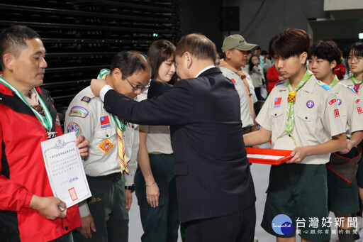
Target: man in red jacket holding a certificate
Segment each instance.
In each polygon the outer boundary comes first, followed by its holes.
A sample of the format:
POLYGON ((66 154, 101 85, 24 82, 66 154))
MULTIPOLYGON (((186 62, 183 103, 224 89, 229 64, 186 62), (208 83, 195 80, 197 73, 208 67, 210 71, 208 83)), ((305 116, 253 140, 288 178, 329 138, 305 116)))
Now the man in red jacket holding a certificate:
MULTIPOLYGON (((72 241, 78 206, 54 197, 40 143, 62 135, 49 92, 40 89, 47 62, 40 36, 26 26, 0 33, 1 241, 72 241), (41 122, 43 121, 43 122, 41 122)), ((78 138, 81 156, 89 141, 78 138)))

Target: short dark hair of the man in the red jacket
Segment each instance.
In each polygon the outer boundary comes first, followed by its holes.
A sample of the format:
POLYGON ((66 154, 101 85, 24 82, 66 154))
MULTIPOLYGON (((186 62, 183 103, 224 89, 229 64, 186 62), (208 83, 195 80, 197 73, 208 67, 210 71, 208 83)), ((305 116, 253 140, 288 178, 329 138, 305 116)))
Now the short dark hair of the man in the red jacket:
POLYGON ((4 28, 0 33, 1 69, 3 71, 5 69, 3 57, 6 53, 12 53, 16 58, 19 57, 21 50, 28 48, 26 40, 33 40, 34 38, 40 38, 40 36, 26 26, 4 28))

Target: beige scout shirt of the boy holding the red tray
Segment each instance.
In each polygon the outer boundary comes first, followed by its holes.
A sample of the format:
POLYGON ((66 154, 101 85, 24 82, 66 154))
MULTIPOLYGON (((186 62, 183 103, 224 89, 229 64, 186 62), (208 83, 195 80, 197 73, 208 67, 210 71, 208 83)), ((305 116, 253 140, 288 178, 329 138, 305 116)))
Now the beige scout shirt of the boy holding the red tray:
MULTIPOLYGON (((333 136, 345 133, 335 94, 331 89, 325 90, 323 86, 330 89, 312 75, 296 93, 295 121, 292 130, 296 145, 289 133, 277 138, 286 130, 289 97, 287 82, 280 82, 272 89, 256 118, 260 126, 272 132, 272 148, 294 150, 296 146, 318 145, 329 141, 333 136)), ((330 153, 311 155, 304 158, 301 163, 325 164, 329 158, 330 153)))

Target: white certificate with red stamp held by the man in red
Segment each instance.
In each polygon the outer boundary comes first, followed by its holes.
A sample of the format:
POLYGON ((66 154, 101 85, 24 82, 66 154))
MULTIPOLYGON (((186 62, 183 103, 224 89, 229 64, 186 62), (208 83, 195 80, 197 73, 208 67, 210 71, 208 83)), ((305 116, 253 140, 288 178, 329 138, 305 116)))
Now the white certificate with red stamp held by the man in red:
POLYGON ((74 132, 70 132, 41 143, 52 192, 67 208, 91 197, 75 140, 74 132))

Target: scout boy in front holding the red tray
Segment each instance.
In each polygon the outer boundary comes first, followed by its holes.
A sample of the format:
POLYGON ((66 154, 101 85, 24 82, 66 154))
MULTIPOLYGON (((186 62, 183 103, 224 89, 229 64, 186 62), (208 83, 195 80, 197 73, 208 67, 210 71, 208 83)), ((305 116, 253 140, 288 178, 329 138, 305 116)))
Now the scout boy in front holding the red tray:
POLYGON ((328 216, 325 163, 330 153, 347 144, 335 94, 306 68, 309 48, 308 34, 296 28, 270 40, 274 65, 287 80, 272 89, 259 112, 259 131, 243 136, 245 145, 272 138, 272 148, 293 150, 287 164, 272 165, 270 170, 262 227, 277 241, 295 241, 296 221, 301 241, 330 239, 329 231, 318 233, 324 231, 321 221, 328 216), (272 221, 279 214, 289 216, 295 228, 277 233, 272 221), (314 218, 320 223, 311 226, 314 218))

